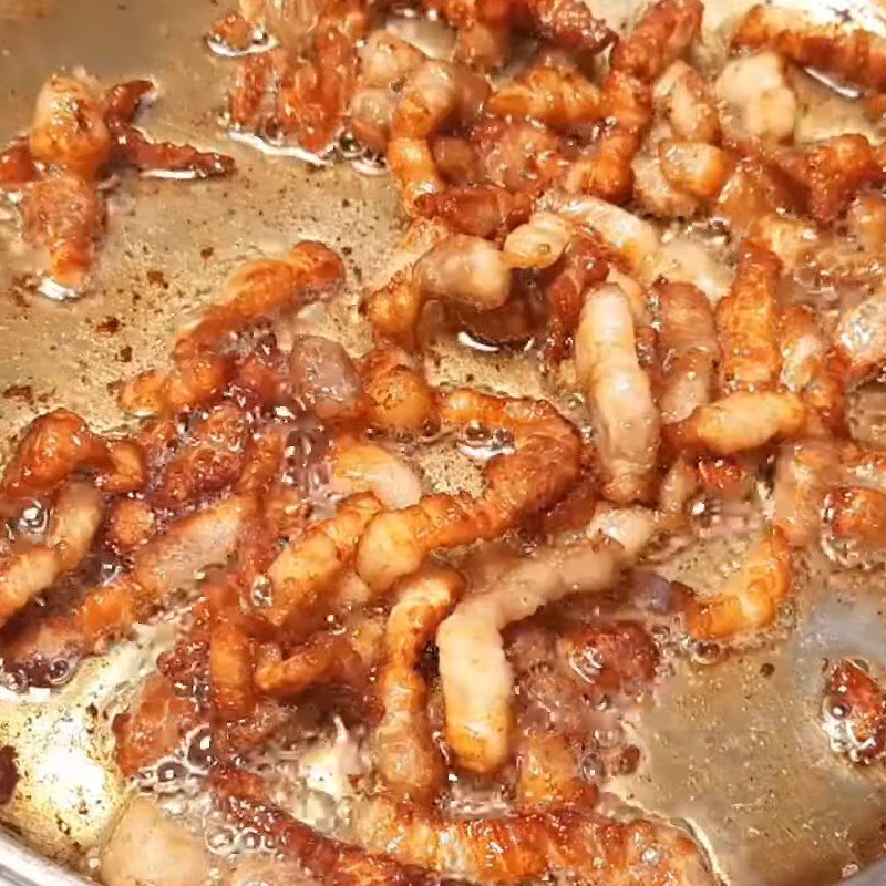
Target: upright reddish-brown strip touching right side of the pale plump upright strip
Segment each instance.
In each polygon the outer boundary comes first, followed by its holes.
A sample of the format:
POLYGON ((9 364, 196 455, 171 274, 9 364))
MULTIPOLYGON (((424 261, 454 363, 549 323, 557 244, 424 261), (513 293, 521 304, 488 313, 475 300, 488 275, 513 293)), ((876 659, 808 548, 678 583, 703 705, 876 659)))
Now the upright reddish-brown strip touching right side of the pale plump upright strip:
POLYGON ((720 356, 713 311, 707 296, 690 284, 660 284, 659 347, 662 380, 659 409, 663 424, 689 418, 711 401, 720 356))

